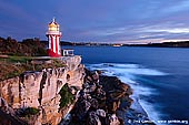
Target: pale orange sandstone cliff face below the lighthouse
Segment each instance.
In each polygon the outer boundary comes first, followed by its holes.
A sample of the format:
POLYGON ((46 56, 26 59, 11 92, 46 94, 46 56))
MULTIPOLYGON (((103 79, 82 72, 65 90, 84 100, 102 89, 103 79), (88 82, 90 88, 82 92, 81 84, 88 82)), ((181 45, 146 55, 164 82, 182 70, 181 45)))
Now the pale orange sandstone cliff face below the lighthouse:
POLYGON ((69 86, 81 88, 84 74, 80 56, 67 56, 62 61, 67 66, 26 72, 20 76, 1 81, 0 97, 3 100, 0 102, 1 108, 4 103, 7 104, 3 105, 4 112, 8 112, 8 107, 13 111, 36 107, 40 113, 32 124, 57 125, 63 117, 59 112, 61 87, 68 83, 69 86))

